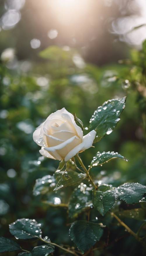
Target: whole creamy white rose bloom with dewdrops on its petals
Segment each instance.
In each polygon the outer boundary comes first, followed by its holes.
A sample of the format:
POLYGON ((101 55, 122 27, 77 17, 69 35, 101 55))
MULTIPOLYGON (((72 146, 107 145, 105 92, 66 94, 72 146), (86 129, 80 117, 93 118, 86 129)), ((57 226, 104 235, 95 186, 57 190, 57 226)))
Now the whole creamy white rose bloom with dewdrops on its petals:
POLYGON ((33 140, 41 146, 40 154, 57 160, 68 161, 78 152, 92 146, 96 132, 83 136, 74 116, 65 108, 52 113, 33 133, 33 140))

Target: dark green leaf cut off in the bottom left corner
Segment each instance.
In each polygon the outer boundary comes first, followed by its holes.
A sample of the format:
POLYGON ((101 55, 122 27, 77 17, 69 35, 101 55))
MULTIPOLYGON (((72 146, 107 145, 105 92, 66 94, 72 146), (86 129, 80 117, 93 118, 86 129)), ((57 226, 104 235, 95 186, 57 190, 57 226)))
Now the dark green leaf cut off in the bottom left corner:
POLYGON ((13 252, 20 249, 20 245, 15 243, 13 240, 0 237, 0 252, 13 252))

